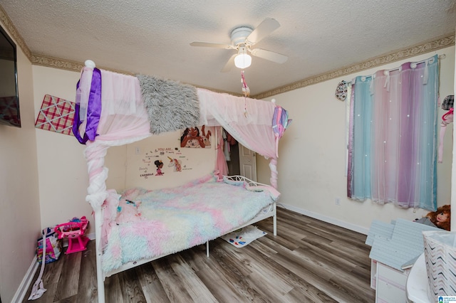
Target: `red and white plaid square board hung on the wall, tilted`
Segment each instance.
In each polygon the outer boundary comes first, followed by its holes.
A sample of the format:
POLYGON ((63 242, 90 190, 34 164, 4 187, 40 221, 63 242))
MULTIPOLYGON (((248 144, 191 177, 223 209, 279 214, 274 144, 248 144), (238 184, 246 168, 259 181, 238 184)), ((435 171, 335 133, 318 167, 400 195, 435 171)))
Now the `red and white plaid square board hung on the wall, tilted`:
POLYGON ((74 102, 45 95, 41 110, 36 117, 35 127, 72 136, 74 107, 74 102))

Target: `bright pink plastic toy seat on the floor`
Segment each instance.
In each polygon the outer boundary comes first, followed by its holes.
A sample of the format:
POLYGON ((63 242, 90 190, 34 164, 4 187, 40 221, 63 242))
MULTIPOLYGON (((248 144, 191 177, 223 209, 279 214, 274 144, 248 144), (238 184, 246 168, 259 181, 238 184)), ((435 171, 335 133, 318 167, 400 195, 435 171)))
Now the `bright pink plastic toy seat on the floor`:
POLYGON ((54 228, 59 239, 68 238, 66 254, 86 250, 89 238, 84 233, 86 233, 87 225, 88 220, 86 216, 83 216, 82 218, 75 217, 69 222, 59 224, 54 228))

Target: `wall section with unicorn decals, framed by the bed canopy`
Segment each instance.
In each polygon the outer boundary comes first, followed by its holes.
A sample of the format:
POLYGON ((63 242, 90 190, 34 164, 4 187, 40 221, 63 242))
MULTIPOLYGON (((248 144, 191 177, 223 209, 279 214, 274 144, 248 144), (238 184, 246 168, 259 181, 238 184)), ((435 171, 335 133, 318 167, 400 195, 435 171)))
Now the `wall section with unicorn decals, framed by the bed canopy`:
MULTIPOLYGON (((214 129, 211 129, 214 134, 214 129)), ((214 135, 211 148, 181 148, 180 132, 154 135, 125 147, 110 147, 105 157, 109 169, 108 188, 118 192, 139 186, 147 189, 170 188, 205 176, 214 171, 214 135), (181 161, 182 171, 169 166, 171 159, 181 161), (163 162, 163 176, 155 176, 155 160, 163 162)))

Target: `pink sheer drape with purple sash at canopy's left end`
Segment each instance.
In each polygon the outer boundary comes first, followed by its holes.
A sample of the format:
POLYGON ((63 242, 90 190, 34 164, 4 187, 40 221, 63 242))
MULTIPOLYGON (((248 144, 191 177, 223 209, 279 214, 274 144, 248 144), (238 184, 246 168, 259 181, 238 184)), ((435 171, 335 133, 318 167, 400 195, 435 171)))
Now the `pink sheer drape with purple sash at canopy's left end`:
POLYGON ((149 130, 138 78, 83 68, 76 90, 73 133, 87 146, 84 151, 89 174, 86 200, 92 208, 101 208, 108 196, 105 184, 108 169, 104 167, 108 147, 144 139, 150 136, 149 130))

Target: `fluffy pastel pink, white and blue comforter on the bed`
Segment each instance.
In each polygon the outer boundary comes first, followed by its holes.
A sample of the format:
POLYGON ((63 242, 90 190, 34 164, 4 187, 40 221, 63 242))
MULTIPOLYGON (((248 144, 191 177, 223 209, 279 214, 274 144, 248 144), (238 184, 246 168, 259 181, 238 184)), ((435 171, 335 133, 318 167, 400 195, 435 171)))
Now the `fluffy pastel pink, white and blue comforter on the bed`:
POLYGON ((213 240, 252 220, 278 197, 272 187, 217 181, 213 175, 177 188, 125 191, 116 223, 110 224, 103 270, 213 240))

